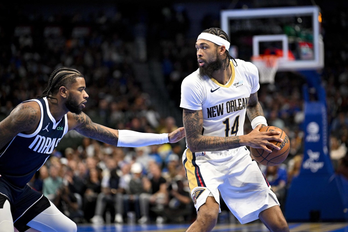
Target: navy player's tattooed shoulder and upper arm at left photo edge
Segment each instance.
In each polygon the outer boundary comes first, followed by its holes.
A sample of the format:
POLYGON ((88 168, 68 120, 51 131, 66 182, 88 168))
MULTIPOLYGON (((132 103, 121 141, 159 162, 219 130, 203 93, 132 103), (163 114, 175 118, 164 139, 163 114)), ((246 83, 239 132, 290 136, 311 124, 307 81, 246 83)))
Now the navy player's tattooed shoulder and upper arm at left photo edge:
POLYGON ((25 102, 18 105, 0 122, 0 149, 18 133, 32 134, 41 119, 40 106, 37 102, 25 102))

